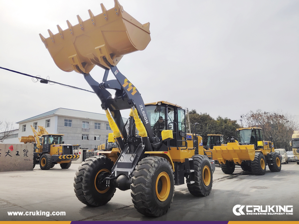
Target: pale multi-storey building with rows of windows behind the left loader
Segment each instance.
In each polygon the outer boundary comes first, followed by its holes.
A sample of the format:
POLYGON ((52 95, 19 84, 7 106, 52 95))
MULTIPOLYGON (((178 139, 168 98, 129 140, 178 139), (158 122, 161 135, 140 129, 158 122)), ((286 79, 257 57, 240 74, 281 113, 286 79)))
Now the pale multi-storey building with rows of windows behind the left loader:
POLYGON ((18 137, 33 135, 30 125, 37 131, 44 126, 48 133, 64 134, 65 144, 79 144, 82 149, 94 149, 106 143, 108 134, 112 132, 106 114, 76 111, 58 108, 21 121, 18 133, 14 138, 5 139, 3 143, 19 143, 18 137))

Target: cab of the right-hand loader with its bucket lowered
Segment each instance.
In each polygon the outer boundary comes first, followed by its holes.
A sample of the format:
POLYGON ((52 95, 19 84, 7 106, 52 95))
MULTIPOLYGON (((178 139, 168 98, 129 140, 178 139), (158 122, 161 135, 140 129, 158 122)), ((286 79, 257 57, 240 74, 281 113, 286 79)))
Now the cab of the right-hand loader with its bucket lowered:
POLYGON ((240 144, 254 145, 256 149, 258 148, 258 141, 263 141, 262 128, 259 127, 239 128, 236 135, 240 144))

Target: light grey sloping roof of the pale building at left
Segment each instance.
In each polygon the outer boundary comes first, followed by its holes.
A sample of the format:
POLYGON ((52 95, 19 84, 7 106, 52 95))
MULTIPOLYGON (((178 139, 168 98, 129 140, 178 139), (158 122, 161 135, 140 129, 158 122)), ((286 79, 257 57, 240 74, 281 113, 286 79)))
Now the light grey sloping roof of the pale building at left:
MULTIPOLYGON (((36 116, 32 116, 30 118, 18 121, 16 123, 23 123, 29 120, 35 120, 42 117, 47 117, 51 115, 60 115, 60 116, 68 116, 68 117, 78 117, 78 118, 87 118, 87 119, 94 119, 94 120, 105 120, 108 121, 106 114, 103 113, 94 113, 94 112, 86 112, 86 111, 77 111, 65 108, 58 108, 49 112, 41 113, 36 116)), ((125 118, 123 118, 125 120, 125 118)))

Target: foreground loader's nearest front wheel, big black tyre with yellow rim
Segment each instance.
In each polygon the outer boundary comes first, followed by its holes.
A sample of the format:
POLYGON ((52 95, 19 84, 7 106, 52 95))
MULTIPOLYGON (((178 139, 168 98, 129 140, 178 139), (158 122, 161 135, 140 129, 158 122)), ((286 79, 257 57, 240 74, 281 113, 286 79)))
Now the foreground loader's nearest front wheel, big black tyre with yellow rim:
POLYGON ((131 196, 134 207, 145 216, 164 215, 173 201, 174 176, 169 162, 162 157, 142 159, 133 172, 131 196))

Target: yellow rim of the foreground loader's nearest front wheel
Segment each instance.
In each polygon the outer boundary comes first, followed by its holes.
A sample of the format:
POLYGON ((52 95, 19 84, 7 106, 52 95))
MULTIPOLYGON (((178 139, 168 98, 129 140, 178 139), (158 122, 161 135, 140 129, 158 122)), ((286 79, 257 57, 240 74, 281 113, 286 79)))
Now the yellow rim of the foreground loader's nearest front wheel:
POLYGON ((156 183, 155 192, 159 201, 164 202, 170 192, 170 179, 166 172, 159 173, 156 183))

